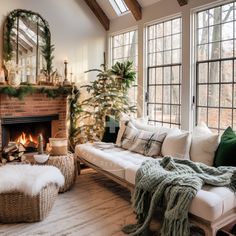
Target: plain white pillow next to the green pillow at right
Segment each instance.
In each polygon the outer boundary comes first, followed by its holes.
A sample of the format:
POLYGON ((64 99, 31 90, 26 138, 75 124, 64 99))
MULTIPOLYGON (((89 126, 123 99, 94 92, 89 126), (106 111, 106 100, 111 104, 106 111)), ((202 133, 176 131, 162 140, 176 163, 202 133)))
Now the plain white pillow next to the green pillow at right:
POLYGON ((206 124, 194 128, 190 157, 192 161, 213 166, 215 152, 219 146, 219 135, 213 134, 206 124))

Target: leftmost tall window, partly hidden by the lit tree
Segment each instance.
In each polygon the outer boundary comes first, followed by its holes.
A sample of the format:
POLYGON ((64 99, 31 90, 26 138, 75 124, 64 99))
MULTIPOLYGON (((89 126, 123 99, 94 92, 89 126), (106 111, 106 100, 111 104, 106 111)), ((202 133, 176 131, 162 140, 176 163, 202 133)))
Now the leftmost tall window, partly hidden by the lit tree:
MULTIPOLYGON (((117 61, 133 61, 135 71, 138 71, 138 40, 137 30, 131 30, 111 37, 111 64, 117 61)), ((129 90, 131 105, 137 105, 137 76, 136 81, 129 90)))

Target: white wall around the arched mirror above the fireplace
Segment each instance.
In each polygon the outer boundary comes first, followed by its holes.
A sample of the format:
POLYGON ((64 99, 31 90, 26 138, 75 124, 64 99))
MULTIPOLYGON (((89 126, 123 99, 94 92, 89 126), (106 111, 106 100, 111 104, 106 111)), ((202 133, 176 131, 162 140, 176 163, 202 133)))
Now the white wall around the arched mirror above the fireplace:
MULTIPOLYGON (((94 79, 94 75, 83 72, 97 68, 103 62, 106 31, 84 0, 1 0, 0 32, 6 16, 18 8, 37 12, 49 22, 52 44, 55 45, 54 68, 63 73, 63 61, 68 58, 68 70, 72 70, 74 80, 84 84, 94 79)), ((2 38, 1 33, 1 62, 2 38)))

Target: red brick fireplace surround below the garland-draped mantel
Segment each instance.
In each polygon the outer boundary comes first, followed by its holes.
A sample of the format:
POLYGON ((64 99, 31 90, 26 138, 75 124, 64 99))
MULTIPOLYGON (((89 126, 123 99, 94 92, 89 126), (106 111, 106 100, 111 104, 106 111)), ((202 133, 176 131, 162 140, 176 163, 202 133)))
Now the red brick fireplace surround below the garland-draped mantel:
MULTIPOLYGON (((45 94, 34 93, 23 100, 0 95, 0 122, 7 117, 28 117, 59 115, 52 121, 52 137, 67 137, 67 98, 60 96, 52 99, 45 94)), ((0 149, 2 149, 2 124, 0 124, 0 149)))

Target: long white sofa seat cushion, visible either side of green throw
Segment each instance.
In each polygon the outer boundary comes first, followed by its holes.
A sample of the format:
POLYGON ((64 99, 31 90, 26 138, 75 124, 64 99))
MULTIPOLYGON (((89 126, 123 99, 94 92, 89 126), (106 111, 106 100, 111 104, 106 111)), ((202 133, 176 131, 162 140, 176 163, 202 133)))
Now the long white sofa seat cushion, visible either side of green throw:
MULTIPOLYGON (((135 185, 138 168, 143 161, 150 158, 117 148, 112 144, 109 148, 98 147, 96 144, 77 145, 76 154, 133 185, 135 185)), ((190 205, 189 212, 205 220, 214 221, 235 207, 236 198, 232 191, 225 187, 206 185, 198 191, 190 205)))

